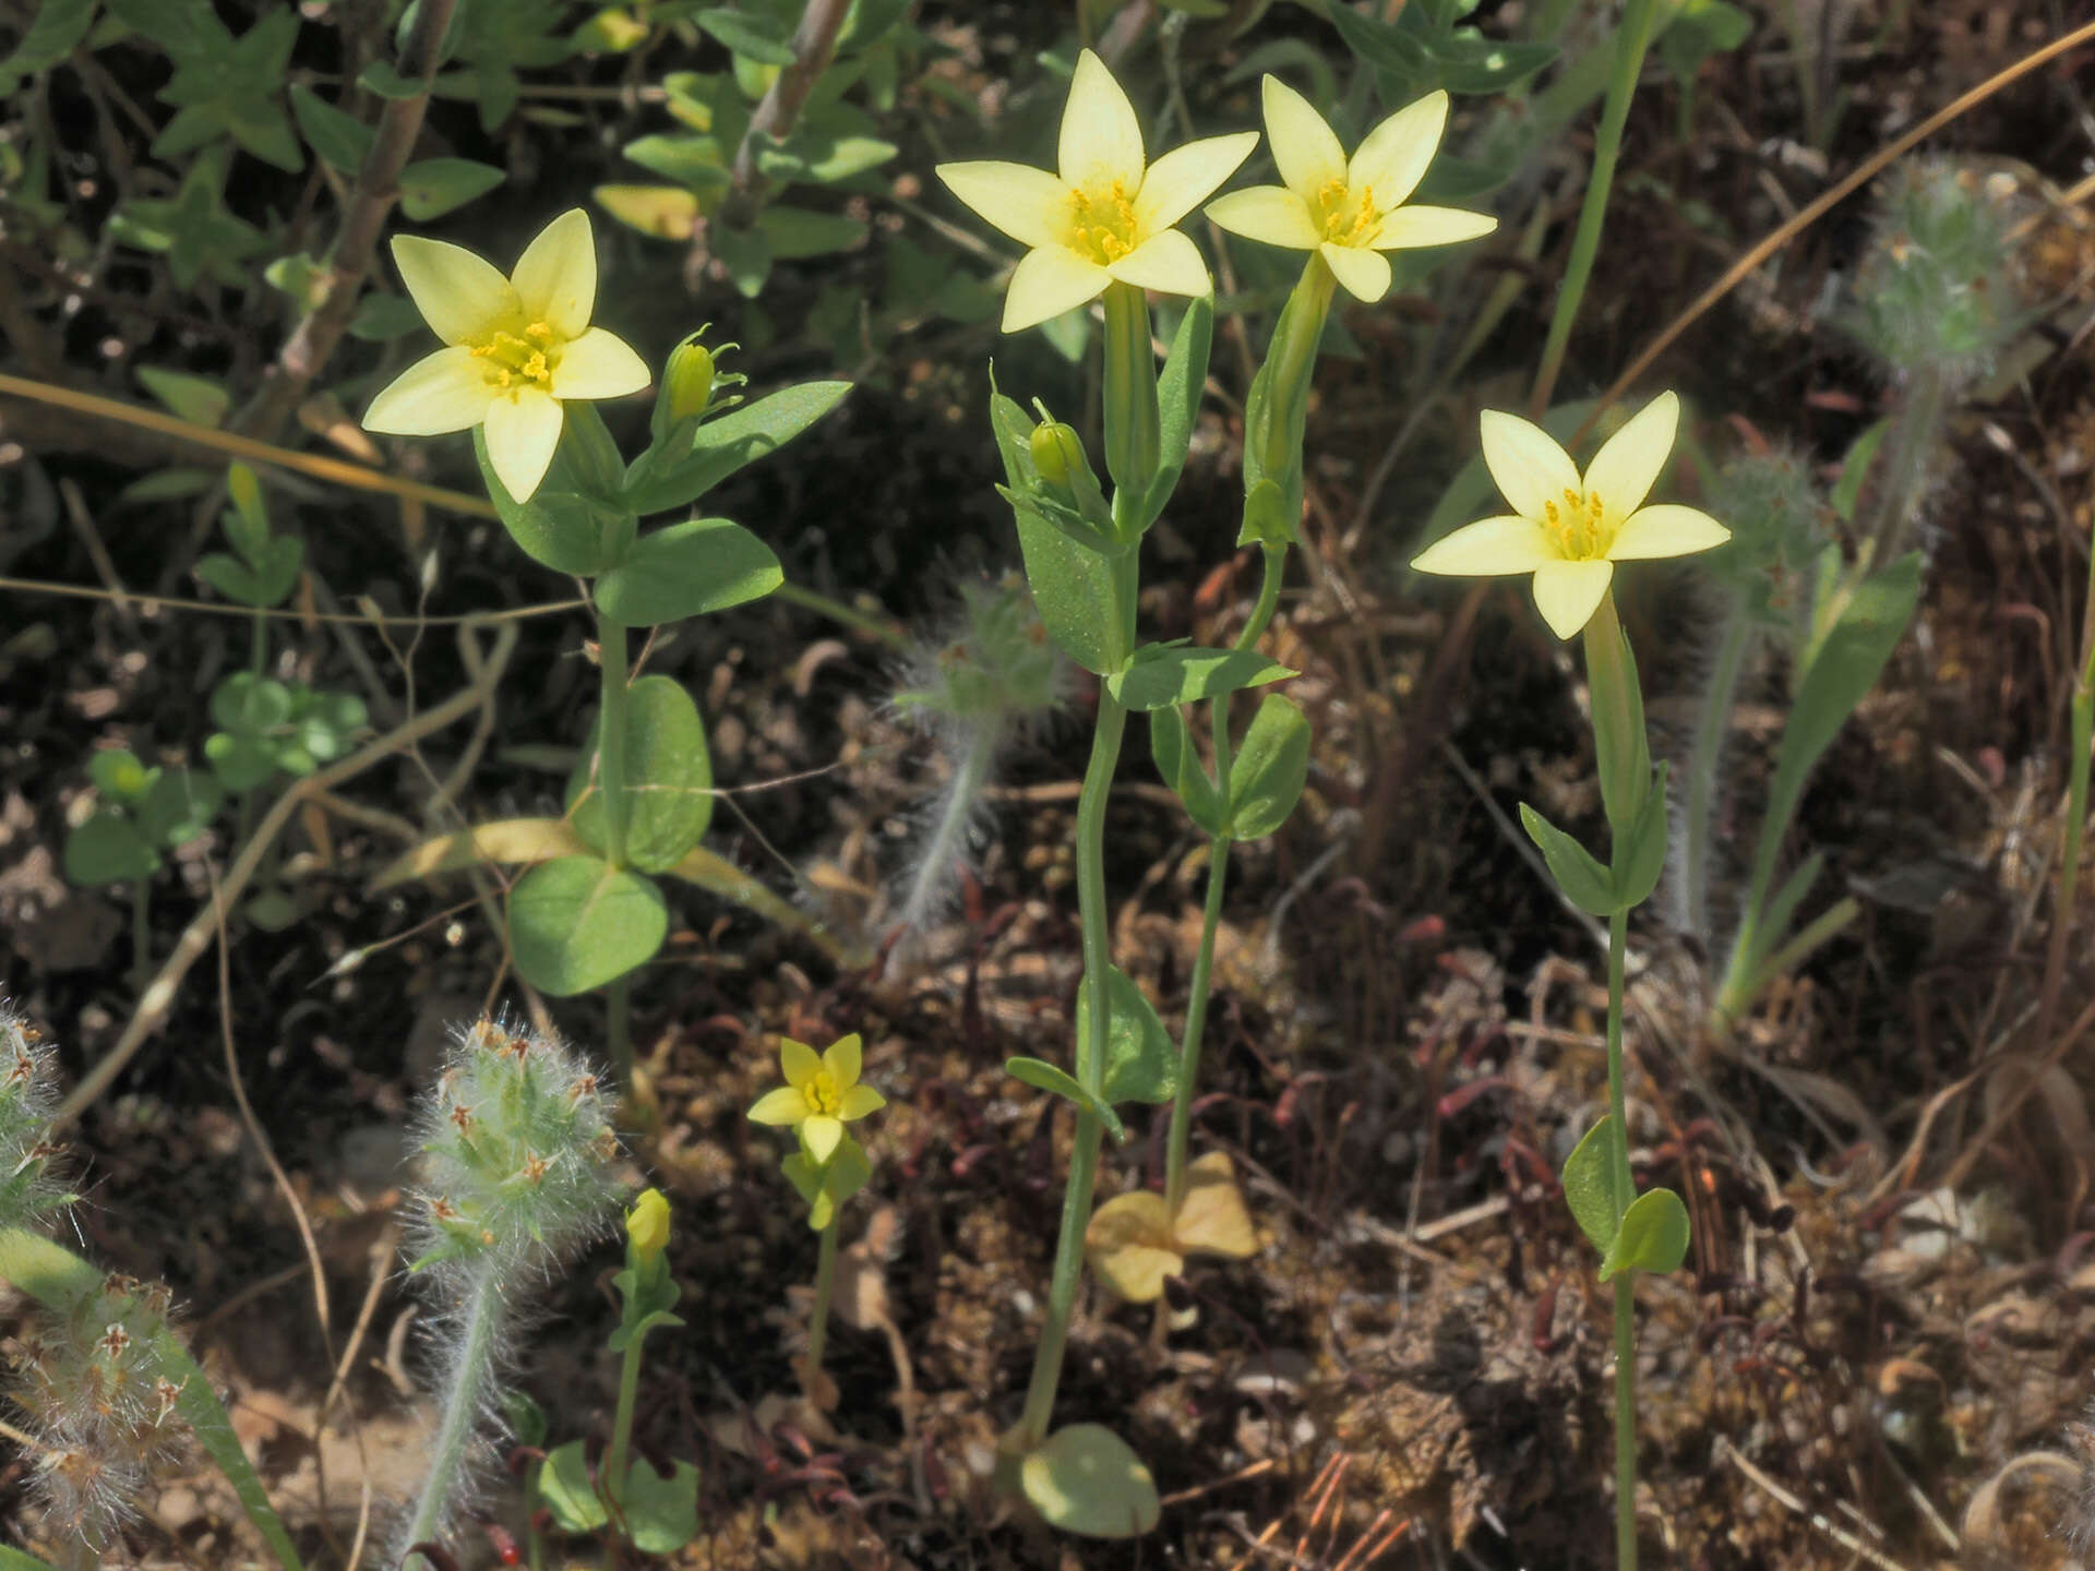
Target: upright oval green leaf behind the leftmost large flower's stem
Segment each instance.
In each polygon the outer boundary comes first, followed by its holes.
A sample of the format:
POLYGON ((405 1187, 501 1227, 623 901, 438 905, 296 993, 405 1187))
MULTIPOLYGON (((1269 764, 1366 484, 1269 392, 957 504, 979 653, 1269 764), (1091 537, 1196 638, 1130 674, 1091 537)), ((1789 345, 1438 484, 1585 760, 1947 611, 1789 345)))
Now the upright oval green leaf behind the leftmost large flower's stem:
MULTIPOLYGON (((595 781, 603 721, 589 729, 589 750, 568 781, 568 821, 593 850, 603 850, 603 792, 595 781)), ((670 677, 641 677, 626 687, 626 861, 666 873, 712 821, 712 754, 698 704, 670 677)))

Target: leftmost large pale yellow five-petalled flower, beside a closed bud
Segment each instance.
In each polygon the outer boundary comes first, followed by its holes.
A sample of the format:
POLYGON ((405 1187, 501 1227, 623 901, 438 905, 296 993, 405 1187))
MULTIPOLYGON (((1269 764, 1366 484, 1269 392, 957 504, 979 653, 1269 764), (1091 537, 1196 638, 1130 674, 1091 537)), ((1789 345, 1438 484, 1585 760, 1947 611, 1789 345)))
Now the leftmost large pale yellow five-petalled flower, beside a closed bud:
POLYGON ((547 224, 507 279, 461 245, 417 235, 394 239, 394 262, 446 348, 371 400, 367 432, 442 436, 486 425, 488 463, 526 501, 559 446, 561 402, 647 385, 633 348, 589 325, 597 245, 580 207, 547 224))

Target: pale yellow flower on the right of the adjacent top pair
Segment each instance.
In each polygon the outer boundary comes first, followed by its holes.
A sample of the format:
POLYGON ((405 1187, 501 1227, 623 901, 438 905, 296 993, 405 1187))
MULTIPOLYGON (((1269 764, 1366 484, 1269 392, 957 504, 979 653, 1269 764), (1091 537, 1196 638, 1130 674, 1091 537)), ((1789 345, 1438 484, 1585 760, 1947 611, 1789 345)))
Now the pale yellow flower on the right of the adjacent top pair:
POLYGON ((1265 78, 1265 140, 1280 165, 1278 186, 1232 191, 1207 216, 1232 235, 1316 251, 1339 283, 1366 302, 1389 293, 1389 258, 1418 245, 1473 241, 1498 228, 1490 214, 1406 205, 1448 130, 1448 94, 1429 92, 1372 132, 1351 161, 1307 98, 1265 78))

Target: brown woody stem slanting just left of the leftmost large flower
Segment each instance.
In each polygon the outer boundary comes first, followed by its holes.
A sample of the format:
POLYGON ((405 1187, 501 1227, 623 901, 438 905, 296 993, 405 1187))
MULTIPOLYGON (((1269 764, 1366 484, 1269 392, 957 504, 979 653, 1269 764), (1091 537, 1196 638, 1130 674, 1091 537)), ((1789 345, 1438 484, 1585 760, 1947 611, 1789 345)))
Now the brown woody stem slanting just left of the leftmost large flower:
POLYGON ((333 356, 350 316, 356 314, 379 235, 385 230, 394 201, 400 199, 400 170, 406 168, 415 138, 421 136, 421 117, 429 107, 429 82, 436 75, 444 31, 450 27, 453 4, 455 0, 423 0, 415 13, 415 31, 400 50, 400 73, 421 82, 421 92, 413 98, 388 98, 385 109, 379 111, 377 134, 356 172, 356 189, 350 193, 341 237, 335 241, 335 253, 327 268, 327 291, 285 339, 277 362, 262 377, 262 388, 235 417, 233 429, 241 436, 270 440, 283 429, 312 379, 333 356))

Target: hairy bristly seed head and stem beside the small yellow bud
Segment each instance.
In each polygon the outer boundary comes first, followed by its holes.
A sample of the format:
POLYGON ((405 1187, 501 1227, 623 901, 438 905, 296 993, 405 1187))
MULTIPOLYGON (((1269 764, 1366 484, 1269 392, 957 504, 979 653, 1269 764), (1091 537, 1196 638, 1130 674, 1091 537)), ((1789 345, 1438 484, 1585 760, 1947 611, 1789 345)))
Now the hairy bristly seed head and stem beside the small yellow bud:
MULTIPOLYGON (((442 1542, 501 1431, 501 1376, 530 1288, 618 1215, 618 1137, 595 1070, 566 1043, 482 1018, 417 1108, 411 1271, 436 1299, 438 1431, 392 1563, 442 1542)), ((434 1567, 432 1567, 434 1571, 434 1567)))

